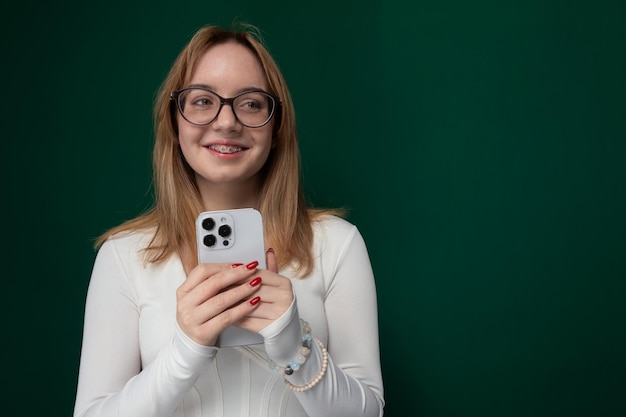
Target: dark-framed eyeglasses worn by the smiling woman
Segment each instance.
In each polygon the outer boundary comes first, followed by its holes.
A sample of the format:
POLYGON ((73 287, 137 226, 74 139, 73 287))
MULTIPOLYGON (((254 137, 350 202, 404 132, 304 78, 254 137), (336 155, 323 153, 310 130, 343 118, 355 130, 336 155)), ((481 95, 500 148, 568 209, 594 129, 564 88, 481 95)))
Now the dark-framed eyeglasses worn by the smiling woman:
POLYGON ((176 102, 180 114, 189 123, 203 126, 217 119, 222 107, 230 105, 235 118, 246 127, 261 127, 270 121, 280 100, 265 91, 250 90, 235 97, 224 98, 202 87, 174 91, 170 99, 176 102))

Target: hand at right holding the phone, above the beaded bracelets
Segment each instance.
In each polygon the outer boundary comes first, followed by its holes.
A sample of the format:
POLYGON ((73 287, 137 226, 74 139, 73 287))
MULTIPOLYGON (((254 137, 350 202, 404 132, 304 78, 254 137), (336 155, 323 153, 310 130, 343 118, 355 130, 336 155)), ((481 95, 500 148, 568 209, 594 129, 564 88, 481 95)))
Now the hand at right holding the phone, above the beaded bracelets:
POLYGON ((237 326, 258 333, 289 309, 293 302, 293 289, 291 281, 278 274, 276 255, 272 249, 267 251, 267 269, 258 270, 257 274, 263 280, 256 293, 261 302, 237 326))

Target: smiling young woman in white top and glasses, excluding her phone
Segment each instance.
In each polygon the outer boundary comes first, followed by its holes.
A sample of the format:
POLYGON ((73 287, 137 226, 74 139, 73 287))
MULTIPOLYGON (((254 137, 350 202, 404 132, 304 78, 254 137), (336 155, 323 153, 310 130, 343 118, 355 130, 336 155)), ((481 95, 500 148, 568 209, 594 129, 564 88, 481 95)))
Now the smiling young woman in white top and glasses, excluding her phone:
POLYGON ((382 416, 356 227, 307 207, 291 97, 255 29, 207 26, 155 103, 155 206, 98 240, 75 416, 382 416), (252 207, 267 269, 198 264, 196 216, 252 207), (263 343, 216 347, 230 325, 263 343))

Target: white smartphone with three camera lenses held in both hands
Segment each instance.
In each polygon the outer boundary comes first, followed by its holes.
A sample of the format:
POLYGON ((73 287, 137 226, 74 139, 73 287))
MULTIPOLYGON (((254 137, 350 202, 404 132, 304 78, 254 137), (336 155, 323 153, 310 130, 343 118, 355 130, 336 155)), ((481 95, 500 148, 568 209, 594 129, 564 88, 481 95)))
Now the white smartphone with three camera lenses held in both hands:
MULTIPOLYGON (((265 238, 261 212, 254 208, 205 211, 196 219, 198 262, 226 262, 247 264, 259 262, 267 268, 265 238)), ((263 343, 255 332, 229 326, 217 339, 217 347, 263 343)))

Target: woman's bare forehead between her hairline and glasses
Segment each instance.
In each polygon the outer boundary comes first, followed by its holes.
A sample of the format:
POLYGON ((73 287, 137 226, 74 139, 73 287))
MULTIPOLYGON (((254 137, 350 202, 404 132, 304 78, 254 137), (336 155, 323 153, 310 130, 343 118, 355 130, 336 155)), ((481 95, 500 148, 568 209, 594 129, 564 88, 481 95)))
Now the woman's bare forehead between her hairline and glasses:
POLYGON ((268 86, 259 59, 236 42, 211 46, 196 63, 190 84, 206 85, 224 94, 246 88, 267 89, 268 86))

